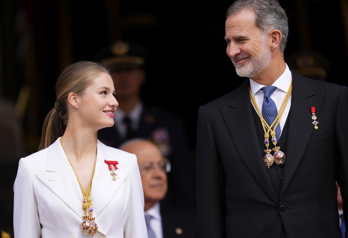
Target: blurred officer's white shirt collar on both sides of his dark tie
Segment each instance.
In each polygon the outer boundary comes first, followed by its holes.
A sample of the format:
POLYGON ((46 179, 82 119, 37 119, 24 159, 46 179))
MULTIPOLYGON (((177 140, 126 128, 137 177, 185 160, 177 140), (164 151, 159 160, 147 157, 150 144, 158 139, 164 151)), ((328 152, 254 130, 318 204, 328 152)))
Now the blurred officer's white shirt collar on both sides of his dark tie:
MULTIPOLYGON (((131 127, 134 131, 136 131, 139 127, 141 112, 143 111, 143 103, 138 102, 135 104, 132 110, 128 113, 128 117, 132 120, 131 127)), ((126 113, 122 111, 119 107, 117 107, 115 111, 115 116, 113 120, 115 121, 114 127, 116 127, 120 137, 124 139, 127 135, 127 126, 123 122, 126 113)))

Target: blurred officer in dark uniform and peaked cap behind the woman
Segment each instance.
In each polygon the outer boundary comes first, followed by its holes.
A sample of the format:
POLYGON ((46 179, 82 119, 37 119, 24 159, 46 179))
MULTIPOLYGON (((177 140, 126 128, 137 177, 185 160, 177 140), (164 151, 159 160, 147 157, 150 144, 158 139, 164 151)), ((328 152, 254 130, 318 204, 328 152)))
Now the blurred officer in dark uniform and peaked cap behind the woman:
MULTIPOLYGON (((147 54, 147 49, 139 44, 118 41, 104 47, 96 55, 96 60, 109 66, 112 71, 119 102, 114 126, 100 130, 98 137, 103 143, 115 148, 132 138, 153 141, 162 155, 169 159, 172 167, 168 174, 170 189, 166 199, 194 209, 195 183, 182 121, 159 107, 144 105, 140 98, 141 86, 146 80, 147 54)), ((156 93, 155 89, 153 93, 156 93)))

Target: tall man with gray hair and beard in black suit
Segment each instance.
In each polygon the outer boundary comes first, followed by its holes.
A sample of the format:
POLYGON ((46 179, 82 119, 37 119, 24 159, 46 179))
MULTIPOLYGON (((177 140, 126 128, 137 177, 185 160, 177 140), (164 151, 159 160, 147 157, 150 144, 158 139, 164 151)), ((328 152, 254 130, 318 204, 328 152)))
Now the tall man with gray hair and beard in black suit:
POLYGON ((335 181, 348 204, 348 88, 285 64, 277 0, 237 0, 225 30, 226 53, 247 79, 199 107, 199 237, 341 237, 335 181))

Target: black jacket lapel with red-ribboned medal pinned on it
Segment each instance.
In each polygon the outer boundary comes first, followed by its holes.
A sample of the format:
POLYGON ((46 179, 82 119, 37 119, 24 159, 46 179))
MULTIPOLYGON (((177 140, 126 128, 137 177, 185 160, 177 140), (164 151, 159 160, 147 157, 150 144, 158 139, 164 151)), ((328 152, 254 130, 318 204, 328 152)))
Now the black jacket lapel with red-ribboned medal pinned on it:
POLYGON ((313 121, 311 119, 311 107, 316 107, 316 115, 320 119, 319 111, 324 98, 324 92, 314 94, 310 85, 301 75, 292 69, 291 73, 293 85, 291 114, 289 115, 285 169, 279 198, 282 197, 287 185, 290 183, 314 130, 314 125, 311 124, 313 121))

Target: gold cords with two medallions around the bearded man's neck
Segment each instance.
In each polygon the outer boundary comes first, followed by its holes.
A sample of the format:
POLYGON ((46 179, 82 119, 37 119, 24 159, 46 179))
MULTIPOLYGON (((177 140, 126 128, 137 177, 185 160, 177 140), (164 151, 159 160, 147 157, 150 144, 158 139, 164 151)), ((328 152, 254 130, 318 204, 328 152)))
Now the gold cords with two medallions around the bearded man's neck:
POLYGON ((285 98, 282 102, 282 105, 280 106, 279 109, 279 113, 277 115, 277 117, 274 119, 274 121, 272 122, 272 124, 269 126, 266 122, 266 120, 262 117, 262 114, 259 110, 258 105, 256 104, 255 98, 251 92, 251 88, 249 85, 249 96, 250 96, 250 100, 253 103, 256 111, 259 114, 259 118, 261 121, 261 125, 262 125, 262 129, 264 131, 264 144, 266 146, 266 150, 264 150, 263 152, 265 153, 265 155, 263 156, 263 161, 266 165, 266 167, 269 169, 269 167, 275 162, 276 164, 284 164, 285 162, 285 154, 280 151, 280 147, 276 146, 277 145, 277 139, 276 139, 276 128, 280 122, 280 118, 282 118, 283 116, 283 112, 285 110, 286 104, 289 101, 290 95, 292 92, 292 80, 289 86, 289 89, 286 92, 285 98), (272 127, 274 126, 274 129, 272 130, 272 127), (266 127, 266 128, 265 128, 266 127), (267 129, 267 131, 266 131, 267 129), (270 152, 272 150, 268 149, 269 147, 269 133, 271 134, 271 141, 274 144, 274 148, 272 149, 275 153, 273 155, 270 154, 270 152))

